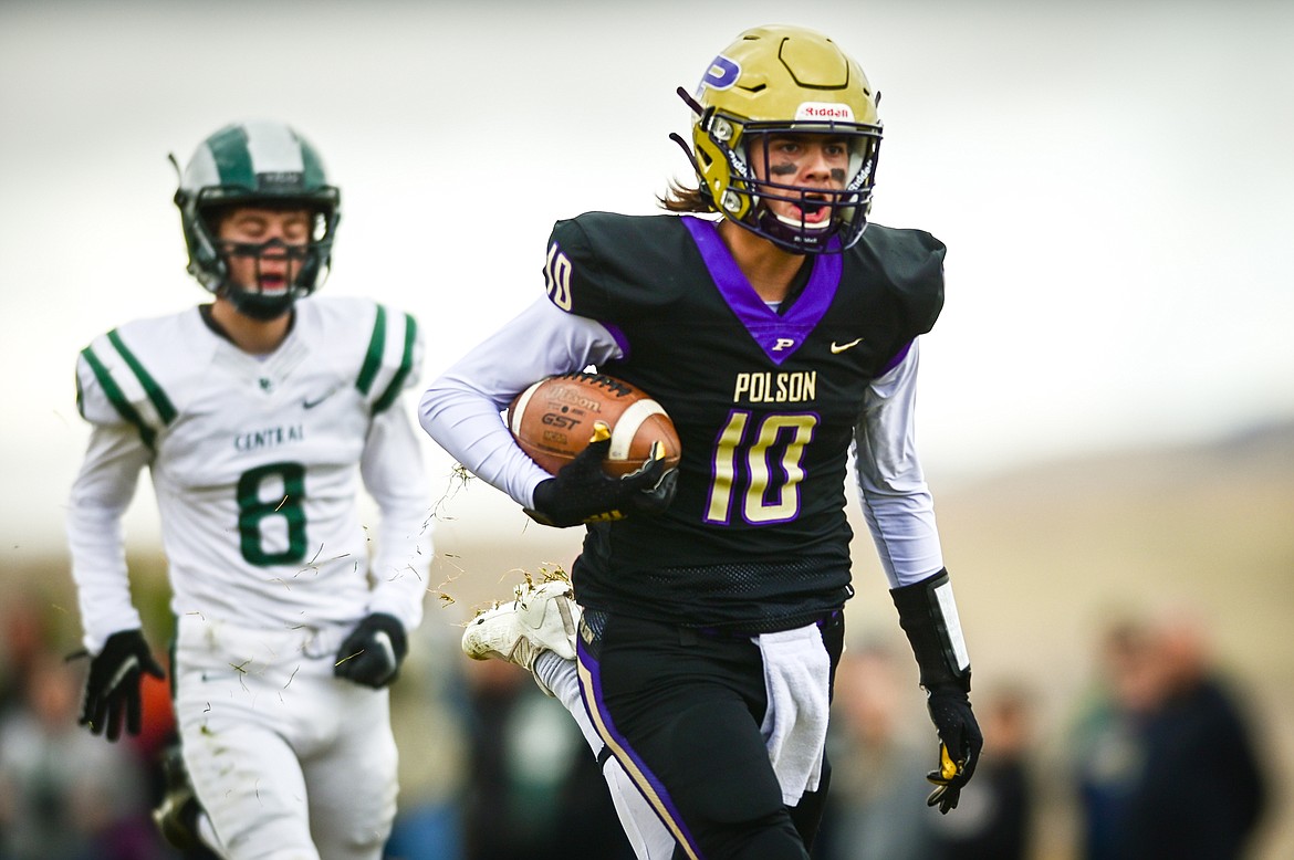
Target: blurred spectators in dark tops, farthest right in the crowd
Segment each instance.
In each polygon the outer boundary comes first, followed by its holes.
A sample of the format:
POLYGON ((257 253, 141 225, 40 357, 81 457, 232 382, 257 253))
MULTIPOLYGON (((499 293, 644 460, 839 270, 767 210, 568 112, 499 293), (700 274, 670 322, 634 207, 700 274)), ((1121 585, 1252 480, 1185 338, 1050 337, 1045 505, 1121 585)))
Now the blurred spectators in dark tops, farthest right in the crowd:
POLYGON ((1244 700, 1201 618, 1119 618, 1071 727, 1088 857, 1241 857, 1271 793, 1244 700))

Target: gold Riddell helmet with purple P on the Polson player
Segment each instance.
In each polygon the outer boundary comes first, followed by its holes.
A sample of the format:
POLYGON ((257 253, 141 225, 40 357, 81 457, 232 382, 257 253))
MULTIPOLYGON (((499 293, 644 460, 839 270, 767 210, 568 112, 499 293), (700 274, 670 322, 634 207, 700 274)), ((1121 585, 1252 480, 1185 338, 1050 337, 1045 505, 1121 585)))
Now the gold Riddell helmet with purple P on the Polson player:
MULTIPOLYGON (((827 36, 791 26, 747 30, 710 63, 692 103, 694 162, 714 210, 745 229, 797 253, 840 252, 867 225, 880 150, 881 123, 862 67, 827 36), (840 193, 758 180, 751 159, 760 136, 823 133, 849 146, 840 193), (779 219, 765 200, 782 199, 831 210, 806 222, 779 219)), ((769 172, 765 171, 765 176, 769 172)))

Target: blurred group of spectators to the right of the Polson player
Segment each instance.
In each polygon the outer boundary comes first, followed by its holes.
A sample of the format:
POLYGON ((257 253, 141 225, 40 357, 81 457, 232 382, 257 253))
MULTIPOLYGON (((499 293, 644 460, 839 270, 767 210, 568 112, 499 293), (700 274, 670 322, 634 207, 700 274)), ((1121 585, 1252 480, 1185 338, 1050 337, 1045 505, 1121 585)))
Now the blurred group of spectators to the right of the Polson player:
POLYGON ((1250 854, 1271 785, 1246 697, 1184 612, 1110 621, 1092 671, 1043 749, 1038 698, 1000 679, 973 697, 985 754, 961 803, 930 815, 914 736, 911 667, 879 647, 846 652, 833 710, 836 777, 815 860, 1236 860, 1250 854), (1056 750, 1060 750, 1057 753, 1056 750), (1044 807, 1073 822, 1044 839, 1044 807))

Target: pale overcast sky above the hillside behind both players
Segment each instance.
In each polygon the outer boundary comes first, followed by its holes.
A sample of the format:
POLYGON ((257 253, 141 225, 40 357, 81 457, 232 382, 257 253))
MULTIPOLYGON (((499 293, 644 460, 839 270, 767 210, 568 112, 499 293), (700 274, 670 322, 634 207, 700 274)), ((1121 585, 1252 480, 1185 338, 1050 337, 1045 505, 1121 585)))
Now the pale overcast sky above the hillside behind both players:
POLYGON ((6 0, 6 548, 62 539, 76 352, 204 297, 168 153, 236 119, 309 137, 343 189, 324 288, 415 313, 430 379, 541 294, 554 219, 653 211, 674 88, 778 22, 884 94, 873 221, 950 247, 932 481, 1294 418, 1290 3, 6 0))

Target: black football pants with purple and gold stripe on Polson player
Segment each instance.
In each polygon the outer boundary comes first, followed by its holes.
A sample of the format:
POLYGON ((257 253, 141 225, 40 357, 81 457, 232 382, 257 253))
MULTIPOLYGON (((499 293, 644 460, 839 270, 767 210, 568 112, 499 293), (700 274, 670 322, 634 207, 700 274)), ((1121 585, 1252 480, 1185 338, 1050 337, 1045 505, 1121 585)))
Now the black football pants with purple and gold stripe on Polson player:
MULTIPOLYGON (((580 676, 594 724, 679 843, 674 856, 807 860, 831 776, 795 807, 760 733, 766 709, 758 645, 639 618, 603 616, 580 643, 580 676)), ((844 643, 840 613, 819 625, 832 679, 844 643)))

